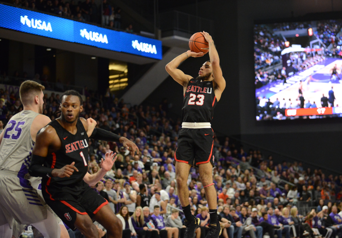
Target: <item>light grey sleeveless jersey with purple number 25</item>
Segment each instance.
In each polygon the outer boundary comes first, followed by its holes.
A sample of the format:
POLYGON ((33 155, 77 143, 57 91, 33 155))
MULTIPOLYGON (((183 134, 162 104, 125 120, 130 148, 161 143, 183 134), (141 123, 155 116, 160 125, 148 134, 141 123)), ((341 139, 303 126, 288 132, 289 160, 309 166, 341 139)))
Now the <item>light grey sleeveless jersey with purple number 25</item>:
POLYGON ((9 170, 22 176, 28 174, 35 144, 31 138, 31 124, 38 115, 31 110, 23 110, 7 123, 0 145, 0 172, 9 170))

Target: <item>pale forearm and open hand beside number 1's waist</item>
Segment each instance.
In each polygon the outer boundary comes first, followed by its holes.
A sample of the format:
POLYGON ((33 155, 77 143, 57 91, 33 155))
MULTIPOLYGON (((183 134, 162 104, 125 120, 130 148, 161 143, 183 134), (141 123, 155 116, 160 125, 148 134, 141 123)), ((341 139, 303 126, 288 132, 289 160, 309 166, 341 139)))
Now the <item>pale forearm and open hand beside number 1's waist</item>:
POLYGON ((101 169, 94 174, 87 172, 83 177, 83 181, 90 186, 95 186, 97 182, 100 181, 103 176, 105 176, 105 174, 113 167, 113 164, 117 158, 115 155, 116 153, 113 153, 113 151, 106 153, 105 160, 101 159, 101 169))

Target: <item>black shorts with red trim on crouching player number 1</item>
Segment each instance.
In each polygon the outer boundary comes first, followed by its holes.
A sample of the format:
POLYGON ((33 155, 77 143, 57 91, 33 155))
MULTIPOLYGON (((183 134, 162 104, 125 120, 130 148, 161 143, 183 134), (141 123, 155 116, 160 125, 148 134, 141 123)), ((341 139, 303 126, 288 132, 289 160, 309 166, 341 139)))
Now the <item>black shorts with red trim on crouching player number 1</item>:
MULTIPOLYGON (((57 214, 58 217, 74 230, 77 213, 89 215, 92 218, 103 206, 108 204, 100 194, 90 187, 87 187, 77 197, 61 191, 58 200, 54 200, 49 194, 42 190, 45 202, 57 214)), ((49 188, 50 190, 50 188, 49 188)))

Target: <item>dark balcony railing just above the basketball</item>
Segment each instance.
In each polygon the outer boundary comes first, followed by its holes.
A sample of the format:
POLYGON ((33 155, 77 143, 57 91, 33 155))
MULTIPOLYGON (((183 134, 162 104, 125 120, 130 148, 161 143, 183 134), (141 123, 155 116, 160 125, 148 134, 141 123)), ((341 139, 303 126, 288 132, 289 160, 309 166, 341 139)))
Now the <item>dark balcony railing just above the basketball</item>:
POLYGON ((213 35, 213 26, 214 22, 210 19, 179 11, 160 13, 160 29, 163 31, 178 30, 193 34, 204 30, 213 35))

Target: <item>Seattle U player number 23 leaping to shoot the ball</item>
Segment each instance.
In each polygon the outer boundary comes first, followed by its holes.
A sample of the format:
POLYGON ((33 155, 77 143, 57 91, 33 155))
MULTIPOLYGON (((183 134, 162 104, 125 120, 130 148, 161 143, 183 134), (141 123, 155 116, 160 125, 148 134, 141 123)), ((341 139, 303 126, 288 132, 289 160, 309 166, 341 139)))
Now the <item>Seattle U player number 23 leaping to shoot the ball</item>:
POLYGON ((210 61, 205 62, 194 79, 177 69, 182 61, 201 57, 203 53, 187 51, 166 65, 166 71, 183 86, 182 129, 179 132, 178 147, 175 152, 175 168, 178 196, 186 218, 184 238, 193 238, 200 226, 200 219, 191 214, 187 179, 192 166, 199 167, 199 175, 206 191, 210 212, 210 225, 206 238, 218 238, 222 232, 217 218, 216 191, 212 180, 213 130, 211 119, 216 103, 226 87, 222 76, 220 59, 214 41, 207 32, 201 32, 209 44, 210 61))

